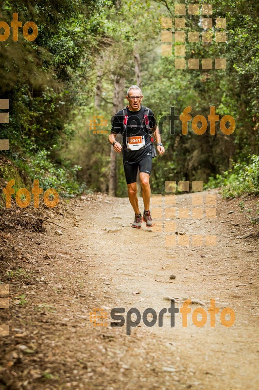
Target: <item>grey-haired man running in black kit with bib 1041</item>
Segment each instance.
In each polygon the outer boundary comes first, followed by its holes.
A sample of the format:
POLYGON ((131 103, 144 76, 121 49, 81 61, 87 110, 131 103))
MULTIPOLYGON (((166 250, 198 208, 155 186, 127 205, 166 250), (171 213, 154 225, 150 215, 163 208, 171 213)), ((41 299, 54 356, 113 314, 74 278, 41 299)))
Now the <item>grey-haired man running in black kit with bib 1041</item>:
POLYGON ((142 220, 146 222, 147 227, 155 225, 149 210, 151 195, 149 178, 152 169, 151 141, 153 140, 151 134, 157 142, 156 147, 159 155, 165 153, 165 148, 161 143, 159 129, 152 110, 141 106, 143 99, 141 89, 137 85, 132 85, 127 91, 126 99, 129 105, 127 108, 115 114, 111 134, 109 135, 109 142, 112 144, 116 153, 120 153, 122 150, 129 201, 135 212, 135 220, 131 226, 140 229, 142 220), (122 146, 115 139, 119 133, 123 137, 122 146), (138 168, 145 209, 143 216, 138 208, 138 168))

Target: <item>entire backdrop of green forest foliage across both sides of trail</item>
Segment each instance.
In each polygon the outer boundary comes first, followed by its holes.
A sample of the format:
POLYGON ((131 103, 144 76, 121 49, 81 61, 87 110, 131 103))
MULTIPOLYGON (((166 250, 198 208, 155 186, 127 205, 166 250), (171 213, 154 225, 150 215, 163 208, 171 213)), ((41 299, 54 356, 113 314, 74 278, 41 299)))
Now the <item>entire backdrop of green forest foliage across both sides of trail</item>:
MULTIPOLYGON (((7 156, 32 179, 39 178, 44 189, 78 194, 79 178, 89 189, 108 191, 110 147, 105 135, 88 130, 89 118, 112 116, 116 78, 125 80, 123 94, 136 84, 137 53, 143 105, 157 119, 168 116, 171 106, 176 115, 191 106, 192 117, 207 118, 209 107, 215 106, 220 118, 231 115, 236 120, 230 136, 223 135, 220 121, 215 136, 209 134, 209 126, 197 136, 190 123, 183 136, 180 121, 170 134, 166 121, 162 134, 166 154, 153 160, 153 193, 164 191, 165 180, 185 179, 208 181, 208 187, 227 186, 225 196, 257 194, 259 11, 254 1, 214 0, 213 19, 226 18, 227 41, 213 38, 212 44, 205 44, 187 39, 186 57, 226 58, 227 68, 184 71, 174 69, 174 55, 161 56, 160 17, 174 18, 174 0, 2 3, 1 20, 10 22, 12 13, 18 12, 19 20, 33 20, 39 28, 34 42, 25 42, 21 32, 18 42, 0 42, 0 96, 10 100, 10 123, 0 131, 10 140, 7 156), (99 81, 100 104, 95 108, 99 81), (82 169, 71 168, 67 160, 82 169)), ((201 35, 200 18, 186 17, 186 36, 197 30, 201 35)), ((117 165, 117 195, 126 196, 121 156, 117 165)))

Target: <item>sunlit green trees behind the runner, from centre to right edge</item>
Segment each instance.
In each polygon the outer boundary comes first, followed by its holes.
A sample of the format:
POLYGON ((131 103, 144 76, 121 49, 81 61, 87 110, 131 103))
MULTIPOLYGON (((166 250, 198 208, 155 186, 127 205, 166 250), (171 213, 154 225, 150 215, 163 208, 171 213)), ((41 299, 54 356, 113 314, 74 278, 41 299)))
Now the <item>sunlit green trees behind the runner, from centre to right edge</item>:
MULTIPOLYGON (((259 62, 255 57, 250 59, 250 51, 254 50, 251 48, 255 47, 257 42, 254 19, 257 13, 251 2, 248 3, 247 9, 244 9, 243 4, 242 1, 233 4, 228 0, 213 3, 214 17, 227 19, 226 43, 215 42, 214 38, 211 45, 202 41, 186 42, 187 57, 200 59, 226 57, 226 71, 215 69, 175 71, 174 57, 161 57, 160 16, 174 17, 174 1, 127 0, 120 2, 116 8, 104 9, 100 15, 100 24, 95 18, 92 19, 91 31, 99 33, 99 29, 103 30, 104 41, 109 43, 105 48, 105 55, 104 53, 99 55, 92 70, 93 86, 97 84, 100 73, 102 82, 100 107, 94 110, 93 98, 90 96, 86 99, 91 115, 111 117, 114 79, 117 76, 125 79, 123 94, 129 85, 136 84, 134 56, 137 51, 140 56, 143 105, 152 108, 157 120, 162 115, 170 115, 171 106, 175 107, 177 115, 180 115, 186 106, 191 106, 192 117, 196 115, 207 117, 209 107, 215 106, 216 114, 220 118, 231 115, 236 120, 236 129, 230 136, 225 136, 221 132, 220 121, 216 122, 215 136, 209 134, 209 125, 203 136, 197 136, 191 130, 190 123, 188 135, 183 136, 180 121, 175 121, 175 134, 170 134, 169 122, 164 122, 162 141, 166 147, 166 154, 153 160, 151 176, 153 193, 164 191, 165 180, 207 182, 213 175, 213 180, 217 179, 221 184, 221 175, 216 176, 219 172, 228 172, 233 162, 240 161, 245 164, 247 156, 258 153, 259 135, 256 131, 258 118, 254 107, 258 102, 256 88, 259 62), (242 12, 245 26, 242 24, 240 27, 239 19, 242 12), (246 89, 242 87, 244 83, 251 93, 247 94, 246 89)), ((201 26, 198 25, 200 17, 187 18, 186 34, 197 29, 202 32, 201 26)), ((124 104, 127 104, 126 100, 124 104)), ((85 110, 85 114, 81 112, 73 120, 72 128, 80 137, 76 136, 76 146, 73 141, 75 150, 69 152, 69 158, 82 165, 82 178, 91 188, 107 191, 109 145, 105 136, 98 135, 95 137, 95 147, 92 147, 93 137, 86 129, 88 117, 91 117, 88 114, 89 110, 85 110), (81 125, 82 121, 85 123, 85 129, 81 125), (84 145, 81 152, 80 139, 81 141, 83 139, 84 145), (97 159, 99 177, 94 172, 97 159)), ((117 160, 117 195, 126 196, 121 157, 117 156, 117 160)), ((228 173, 226 176, 229 176, 228 173)))

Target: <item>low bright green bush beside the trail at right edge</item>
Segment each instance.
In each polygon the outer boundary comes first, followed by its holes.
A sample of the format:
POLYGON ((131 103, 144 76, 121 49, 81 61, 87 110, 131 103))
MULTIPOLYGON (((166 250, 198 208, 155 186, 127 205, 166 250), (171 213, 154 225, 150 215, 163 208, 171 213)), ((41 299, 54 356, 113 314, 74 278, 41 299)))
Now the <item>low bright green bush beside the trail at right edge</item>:
MULTIPOLYGON (((206 188, 223 188, 225 198, 259 194, 259 156, 250 156, 250 163, 236 163, 222 175, 210 177, 206 188)), ((241 209, 243 202, 240 202, 241 209)))

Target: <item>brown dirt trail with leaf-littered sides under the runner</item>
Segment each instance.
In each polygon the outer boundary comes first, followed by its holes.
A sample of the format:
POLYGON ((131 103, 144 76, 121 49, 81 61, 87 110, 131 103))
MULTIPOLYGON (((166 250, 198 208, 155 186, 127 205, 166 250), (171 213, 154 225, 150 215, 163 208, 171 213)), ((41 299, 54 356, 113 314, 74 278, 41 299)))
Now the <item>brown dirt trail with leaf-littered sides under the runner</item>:
POLYGON ((0 336, 0 389, 259 389, 259 235, 250 219, 259 199, 203 194, 217 196, 216 218, 174 219, 173 207, 191 208, 192 195, 177 195, 174 206, 153 196, 162 220, 152 229, 131 228, 125 198, 85 195, 54 209, 13 202, 0 218, 1 283, 10 298, 0 310, 0 324, 9 325, 0 336), (197 235, 203 245, 194 245, 197 235), (187 327, 180 312, 171 326, 171 298, 179 309, 192 301, 187 327), (235 312, 233 326, 220 314, 210 326, 210 299, 235 312), (90 321, 94 308, 107 312, 97 320, 104 326, 90 321), (112 308, 125 317, 138 309, 130 335, 129 323, 110 326, 112 308), (144 324, 147 308, 167 308, 162 327, 144 324), (203 327, 192 321, 198 308, 207 313, 203 327))

